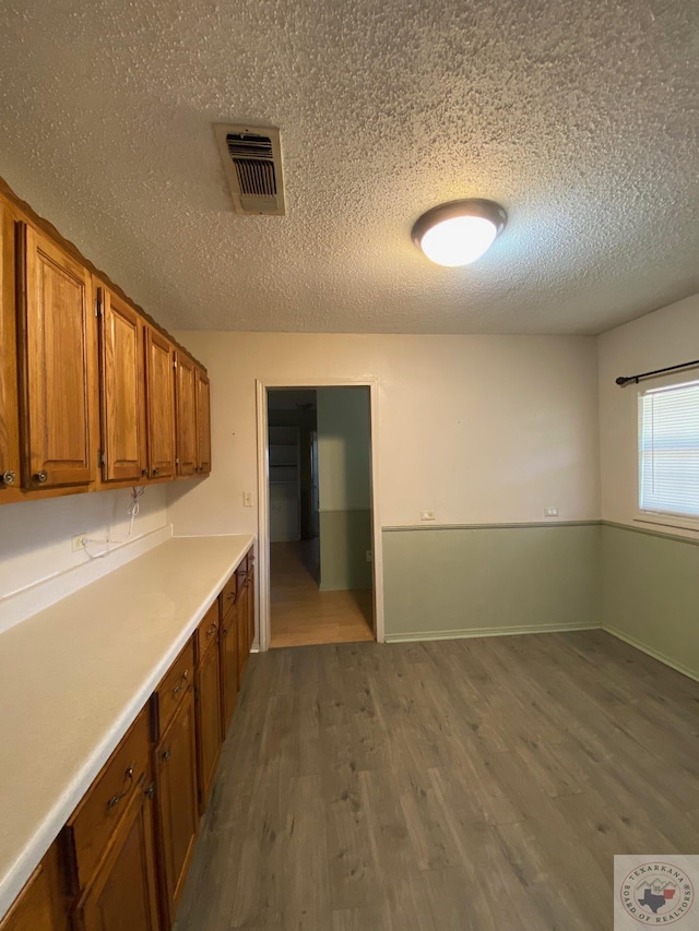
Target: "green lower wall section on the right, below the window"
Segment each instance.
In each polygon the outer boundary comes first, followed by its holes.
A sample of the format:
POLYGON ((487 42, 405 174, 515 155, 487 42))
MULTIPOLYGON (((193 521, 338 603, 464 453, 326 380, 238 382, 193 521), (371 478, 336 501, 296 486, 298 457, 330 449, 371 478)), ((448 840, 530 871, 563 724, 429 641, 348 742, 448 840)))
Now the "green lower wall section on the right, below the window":
POLYGON ((602 626, 699 679, 699 546, 602 527, 602 626))

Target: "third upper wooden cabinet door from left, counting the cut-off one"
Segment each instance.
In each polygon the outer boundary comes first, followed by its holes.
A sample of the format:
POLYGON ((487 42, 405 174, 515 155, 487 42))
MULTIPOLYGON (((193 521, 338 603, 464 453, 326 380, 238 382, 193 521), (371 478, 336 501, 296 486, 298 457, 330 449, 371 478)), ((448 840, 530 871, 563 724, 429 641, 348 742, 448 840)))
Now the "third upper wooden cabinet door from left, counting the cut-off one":
POLYGON ((98 295, 103 479, 139 481, 145 469, 144 324, 107 288, 98 295))

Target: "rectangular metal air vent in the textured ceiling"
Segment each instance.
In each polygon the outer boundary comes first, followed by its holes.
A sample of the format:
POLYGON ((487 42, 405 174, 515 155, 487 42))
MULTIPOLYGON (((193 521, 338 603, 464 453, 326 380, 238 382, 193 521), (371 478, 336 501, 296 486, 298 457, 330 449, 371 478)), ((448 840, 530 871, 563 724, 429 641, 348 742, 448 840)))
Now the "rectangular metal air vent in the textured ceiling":
POLYGON ((246 216, 283 216, 280 131, 272 127, 214 126, 233 208, 246 216))

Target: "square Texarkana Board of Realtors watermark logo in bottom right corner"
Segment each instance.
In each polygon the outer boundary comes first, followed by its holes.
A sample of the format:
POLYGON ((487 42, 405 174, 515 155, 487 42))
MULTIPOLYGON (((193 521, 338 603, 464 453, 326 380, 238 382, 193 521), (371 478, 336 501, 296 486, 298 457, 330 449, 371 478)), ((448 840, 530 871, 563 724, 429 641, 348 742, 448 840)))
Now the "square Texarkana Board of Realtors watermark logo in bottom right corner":
POLYGON ((614 858, 614 929, 677 924, 699 927, 699 856, 648 855, 614 858))

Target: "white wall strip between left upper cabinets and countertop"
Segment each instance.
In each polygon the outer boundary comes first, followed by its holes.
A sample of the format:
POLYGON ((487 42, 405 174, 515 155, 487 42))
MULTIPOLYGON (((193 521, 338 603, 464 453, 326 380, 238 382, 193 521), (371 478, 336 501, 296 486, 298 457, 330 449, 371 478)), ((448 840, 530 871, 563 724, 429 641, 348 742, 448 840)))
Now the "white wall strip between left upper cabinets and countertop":
MULTIPOLYGON (((72 552, 71 537, 88 534, 104 538, 109 530, 112 538, 121 539, 128 530, 126 511, 130 500, 131 489, 120 489, 3 504, 0 508, 0 628, 3 616, 11 610, 7 599, 16 593, 64 573, 80 587, 122 561, 125 552, 118 550, 96 560, 91 560, 85 551, 72 552)), ((133 540, 167 527, 164 486, 147 488, 139 504, 133 540)), ((130 549, 135 553, 132 546, 130 549)), ((103 548, 93 545, 90 550, 97 553, 103 548)), ((66 584, 63 593, 73 590, 71 582, 66 584)), ((35 610, 39 607, 42 604, 36 601, 35 610)))

